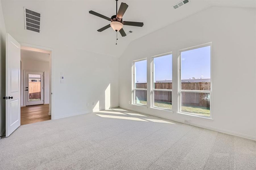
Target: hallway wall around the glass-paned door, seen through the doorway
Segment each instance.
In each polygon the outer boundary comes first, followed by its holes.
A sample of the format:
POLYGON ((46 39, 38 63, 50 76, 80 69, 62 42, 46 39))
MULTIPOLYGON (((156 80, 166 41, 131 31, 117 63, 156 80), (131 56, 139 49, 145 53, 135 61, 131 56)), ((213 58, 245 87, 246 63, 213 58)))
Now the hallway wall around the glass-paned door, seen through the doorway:
MULTIPOLYGON (((21 105, 25 106, 24 103, 24 95, 25 88, 24 88, 24 70, 31 70, 31 71, 45 71, 44 75, 44 84, 45 84, 45 104, 49 104, 49 90, 50 90, 50 62, 47 61, 39 61, 39 60, 31 60, 26 59, 26 56, 22 56, 24 53, 21 52, 21 105)), ((50 55, 50 54, 45 54, 50 55)))

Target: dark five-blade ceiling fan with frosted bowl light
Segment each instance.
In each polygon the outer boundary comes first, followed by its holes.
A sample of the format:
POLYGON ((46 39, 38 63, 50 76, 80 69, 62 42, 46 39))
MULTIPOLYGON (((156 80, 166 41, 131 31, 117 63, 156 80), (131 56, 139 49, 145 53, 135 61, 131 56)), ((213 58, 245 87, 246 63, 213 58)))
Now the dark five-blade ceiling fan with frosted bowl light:
MULTIPOLYGON (((108 29, 109 27, 112 27, 116 31, 116 37, 117 37, 117 31, 120 32, 122 37, 126 36, 126 33, 124 32, 123 25, 130 25, 130 26, 136 26, 136 27, 142 27, 143 22, 132 22, 132 21, 123 21, 123 15, 126 9, 128 8, 128 5, 126 3, 121 3, 119 10, 117 12, 117 1, 116 1, 116 15, 113 15, 111 18, 101 15, 97 12, 94 12, 92 10, 89 11, 90 14, 96 15, 98 17, 101 17, 105 20, 111 21, 109 25, 106 25, 105 27, 102 27, 101 29, 98 29, 97 31, 101 32, 104 31, 105 29, 108 29)), ((117 38, 116 38, 117 39, 117 38)))

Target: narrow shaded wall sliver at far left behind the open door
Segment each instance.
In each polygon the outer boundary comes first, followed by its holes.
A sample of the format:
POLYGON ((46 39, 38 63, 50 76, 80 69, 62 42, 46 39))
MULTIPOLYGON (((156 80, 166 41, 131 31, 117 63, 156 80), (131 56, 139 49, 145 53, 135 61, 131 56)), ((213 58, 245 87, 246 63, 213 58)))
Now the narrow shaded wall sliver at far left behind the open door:
POLYGON ((5 22, 0 0, 0 135, 5 130, 5 22))

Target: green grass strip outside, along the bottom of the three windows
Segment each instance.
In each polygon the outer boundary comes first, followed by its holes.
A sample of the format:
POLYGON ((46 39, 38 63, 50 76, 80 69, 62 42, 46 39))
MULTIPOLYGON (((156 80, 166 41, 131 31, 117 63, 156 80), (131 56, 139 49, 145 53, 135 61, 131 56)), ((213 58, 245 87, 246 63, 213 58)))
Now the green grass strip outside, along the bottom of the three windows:
MULTIPOLYGON (((136 100, 136 103, 141 105, 147 105, 147 101, 142 101, 142 100, 136 100)), ((154 102, 154 107, 158 107, 161 109, 172 109, 172 104, 168 102, 157 101, 157 102, 154 102)), ((181 111, 186 113, 197 114, 199 116, 210 116, 210 109, 205 107, 182 106, 181 111)))

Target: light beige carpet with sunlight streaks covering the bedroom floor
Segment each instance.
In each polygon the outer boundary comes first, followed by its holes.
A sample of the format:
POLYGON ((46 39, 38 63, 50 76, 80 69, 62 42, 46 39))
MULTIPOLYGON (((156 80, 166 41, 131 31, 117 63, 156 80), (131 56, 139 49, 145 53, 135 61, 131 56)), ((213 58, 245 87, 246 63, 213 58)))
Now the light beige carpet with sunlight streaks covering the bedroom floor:
POLYGON ((112 109, 20 126, 0 169, 256 169, 256 142, 112 109))

